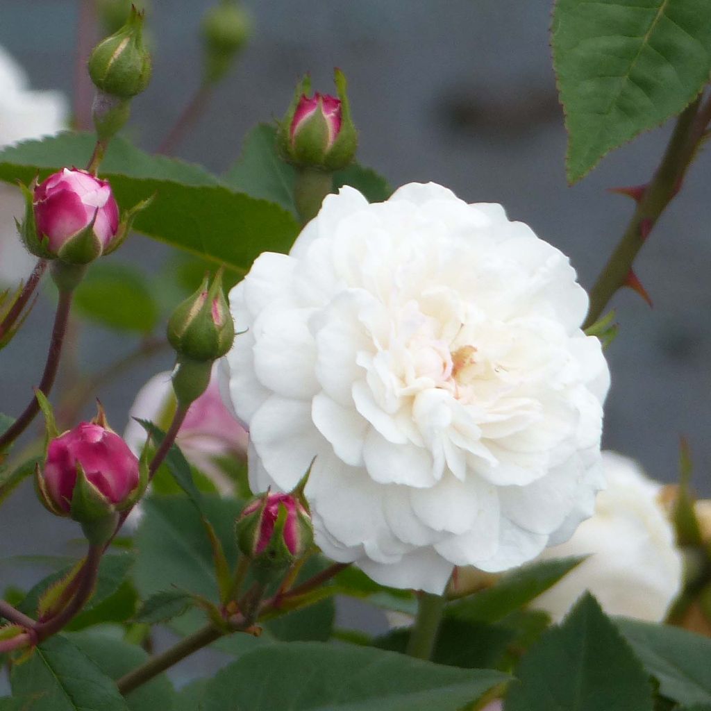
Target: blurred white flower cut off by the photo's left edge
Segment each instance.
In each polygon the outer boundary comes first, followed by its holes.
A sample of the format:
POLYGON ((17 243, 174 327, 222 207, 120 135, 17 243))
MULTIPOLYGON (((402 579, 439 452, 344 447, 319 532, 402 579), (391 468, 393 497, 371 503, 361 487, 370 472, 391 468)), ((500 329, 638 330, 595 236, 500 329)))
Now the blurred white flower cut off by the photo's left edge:
MULTIPOLYGON (((4 48, 0 47, 0 148, 16 141, 55 134, 65 127, 68 104, 60 92, 37 91, 4 48)), ((18 188, 0 184, 0 287, 12 287, 32 270, 36 258, 17 235, 25 203, 18 188)))

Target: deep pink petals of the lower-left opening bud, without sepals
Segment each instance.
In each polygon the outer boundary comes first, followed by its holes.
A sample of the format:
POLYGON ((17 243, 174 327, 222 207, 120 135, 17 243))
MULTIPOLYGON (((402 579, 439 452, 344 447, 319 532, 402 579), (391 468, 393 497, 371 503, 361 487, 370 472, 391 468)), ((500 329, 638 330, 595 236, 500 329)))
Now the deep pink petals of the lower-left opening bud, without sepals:
POLYGON ((124 440, 111 429, 81 422, 52 439, 39 484, 43 503, 59 515, 80 519, 75 507, 77 479, 85 481, 107 513, 130 506, 139 489, 139 461, 124 440))

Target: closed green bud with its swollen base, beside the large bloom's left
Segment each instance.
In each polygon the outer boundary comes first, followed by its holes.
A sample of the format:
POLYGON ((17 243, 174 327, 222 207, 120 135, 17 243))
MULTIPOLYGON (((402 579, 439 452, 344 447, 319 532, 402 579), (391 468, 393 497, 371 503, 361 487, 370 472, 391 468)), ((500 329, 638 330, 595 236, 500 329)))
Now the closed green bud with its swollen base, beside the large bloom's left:
POLYGON ((213 363, 232 348, 234 339, 235 323, 223 292, 220 269, 211 284, 205 277, 168 321, 168 340, 178 358, 173 373, 178 407, 188 407, 205 392, 213 363))

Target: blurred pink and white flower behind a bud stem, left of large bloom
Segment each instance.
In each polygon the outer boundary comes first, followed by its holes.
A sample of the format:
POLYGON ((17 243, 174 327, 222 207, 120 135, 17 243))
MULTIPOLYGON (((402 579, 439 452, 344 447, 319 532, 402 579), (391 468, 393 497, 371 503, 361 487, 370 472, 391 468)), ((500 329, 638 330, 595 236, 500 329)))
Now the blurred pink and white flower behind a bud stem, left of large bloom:
MULTIPOLYGON (((139 454, 146 442, 146 431, 133 418, 148 419, 167 429, 175 407, 171 373, 159 373, 141 387, 124 432, 124 439, 135 454, 139 454)), ((220 491, 232 491, 232 482, 215 463, 215 458, 243 458, 247 451, 247 432, 223 404, 216 368, 213 368, 208 389, 190 406, 176 442, 191 464, 210 476, 220 491)))

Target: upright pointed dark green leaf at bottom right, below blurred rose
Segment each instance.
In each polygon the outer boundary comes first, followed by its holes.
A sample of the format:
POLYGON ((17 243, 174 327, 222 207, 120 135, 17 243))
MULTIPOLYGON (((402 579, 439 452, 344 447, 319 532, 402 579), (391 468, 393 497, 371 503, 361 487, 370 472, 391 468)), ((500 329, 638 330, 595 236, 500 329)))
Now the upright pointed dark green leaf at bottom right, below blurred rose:
POLYGON ((646 671, 597 600, 585 594, 523 657, 506 711, 652 711, 646 671))

